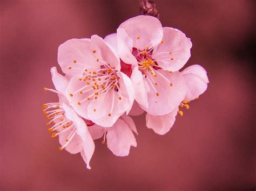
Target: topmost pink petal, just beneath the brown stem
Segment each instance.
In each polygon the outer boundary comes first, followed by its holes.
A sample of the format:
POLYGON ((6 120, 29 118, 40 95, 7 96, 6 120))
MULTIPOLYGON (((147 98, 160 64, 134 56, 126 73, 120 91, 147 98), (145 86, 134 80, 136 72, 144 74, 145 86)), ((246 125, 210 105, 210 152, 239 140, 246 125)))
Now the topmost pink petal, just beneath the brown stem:
POLYGON ((151 16, 137 16, 126 20, 119 26, 133 41, 133 47, 144 50, 153 47, 163 38, 163 27, 159 20, 151 16))

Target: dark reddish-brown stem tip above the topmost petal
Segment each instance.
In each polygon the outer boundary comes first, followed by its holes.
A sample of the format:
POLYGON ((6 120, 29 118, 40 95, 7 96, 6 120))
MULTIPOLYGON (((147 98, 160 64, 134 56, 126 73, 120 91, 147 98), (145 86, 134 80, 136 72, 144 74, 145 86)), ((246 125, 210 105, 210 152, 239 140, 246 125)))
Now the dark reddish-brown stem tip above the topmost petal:
POLYGON ((151 0, 140 0, 139 12, 140 15, 150 15, 159 19, 156 3, 151 0))

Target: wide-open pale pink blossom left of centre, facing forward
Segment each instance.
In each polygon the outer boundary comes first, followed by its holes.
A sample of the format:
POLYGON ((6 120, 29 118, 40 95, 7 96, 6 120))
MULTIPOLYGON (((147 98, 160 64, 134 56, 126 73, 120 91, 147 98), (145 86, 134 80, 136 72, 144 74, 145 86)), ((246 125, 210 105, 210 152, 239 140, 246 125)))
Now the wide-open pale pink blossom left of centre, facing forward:
POLYGON ((85 119, 111 127, 129 112, 134 89, 121 72, 114 48, 94 35, 91 39, 71 39, 59 46, 58 62, 71 77, 66 95, 75 111, 85 119))

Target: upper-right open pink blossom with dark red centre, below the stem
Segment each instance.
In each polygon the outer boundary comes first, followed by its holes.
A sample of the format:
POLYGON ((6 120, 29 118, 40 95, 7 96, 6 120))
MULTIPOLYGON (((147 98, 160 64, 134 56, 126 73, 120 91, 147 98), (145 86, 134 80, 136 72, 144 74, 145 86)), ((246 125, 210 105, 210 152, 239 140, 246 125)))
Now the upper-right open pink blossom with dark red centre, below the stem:
POLYGON ((186 94, 178 71, 190 58, 192 47, 185 34, 162 27, 157 18, 137 16, 122 23, 105 38, 117 48, 120 59, 133 68, 135 100, 150 115, 169 114, 186 94))

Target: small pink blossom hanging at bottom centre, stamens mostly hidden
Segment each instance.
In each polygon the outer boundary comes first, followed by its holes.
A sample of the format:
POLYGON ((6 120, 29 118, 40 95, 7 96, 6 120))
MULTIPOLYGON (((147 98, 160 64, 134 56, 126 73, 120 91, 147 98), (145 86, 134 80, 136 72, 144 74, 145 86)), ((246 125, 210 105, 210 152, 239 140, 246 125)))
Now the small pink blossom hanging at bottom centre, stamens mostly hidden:
POLYGON ((138 132, 131 117, 122 115, 117 119, 117 122, 111 128, 103 128, 97 124, 90 126, 89 131, 93 139, 102 138, 102 143, 107 144, 107 147, 113 154, 124 157, 129 154, 130 147, 137 146, 136 139, 132 133, 138 132))

